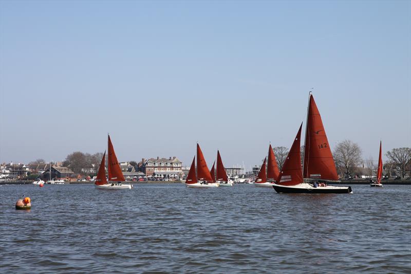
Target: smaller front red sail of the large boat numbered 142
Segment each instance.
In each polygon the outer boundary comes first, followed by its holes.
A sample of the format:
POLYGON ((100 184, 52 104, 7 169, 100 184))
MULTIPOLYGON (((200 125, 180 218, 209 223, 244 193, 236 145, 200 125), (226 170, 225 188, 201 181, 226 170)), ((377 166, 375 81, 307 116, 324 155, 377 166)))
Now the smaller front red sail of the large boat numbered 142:
POLYGON ((301 139, 301 123, 300 130, 295 136, 291 149, 288 152, 287 158, 284 161, 283 169, 279 173, 278 185, 294 186, 301 184, 303 180, 303 172, 301 170, 301 155, 300 155, 300 139, 301 139))

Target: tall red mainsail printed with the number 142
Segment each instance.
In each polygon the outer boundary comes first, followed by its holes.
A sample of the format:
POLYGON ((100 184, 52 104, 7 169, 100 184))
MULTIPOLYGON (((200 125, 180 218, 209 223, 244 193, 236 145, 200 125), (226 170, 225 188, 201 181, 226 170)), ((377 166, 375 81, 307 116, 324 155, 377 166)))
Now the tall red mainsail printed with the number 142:
POLYGON ((304 178, 338 180, 320 112, 310 94, 304 149, 304 178))

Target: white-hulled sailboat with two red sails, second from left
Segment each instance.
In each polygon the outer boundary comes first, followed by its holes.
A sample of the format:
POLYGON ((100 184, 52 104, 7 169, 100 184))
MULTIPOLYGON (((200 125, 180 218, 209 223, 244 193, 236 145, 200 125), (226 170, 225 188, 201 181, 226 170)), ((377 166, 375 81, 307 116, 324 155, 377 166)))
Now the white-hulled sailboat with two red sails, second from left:
POLYGON ((189 175, 185 180, 185 185, 189 188, 213 188, 218 187, 218 182, 214 182, 215 178, 211 176, 210 170, 207 167, 206 159, 202 155, 200 146, 197 143, 197 175, 195 167, 195 156, 191 163, 189 175))

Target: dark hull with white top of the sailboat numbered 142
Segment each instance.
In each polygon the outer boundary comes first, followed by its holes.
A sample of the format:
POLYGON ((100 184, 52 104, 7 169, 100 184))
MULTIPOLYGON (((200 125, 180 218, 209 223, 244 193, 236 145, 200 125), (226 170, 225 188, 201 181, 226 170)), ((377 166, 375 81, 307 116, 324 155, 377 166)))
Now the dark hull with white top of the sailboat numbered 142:
POLYGON ((295 186, 281 186, 273 185, 274 190, 277 193, 308 193, 308 194, 344 194, 352 193, 351 187, 337 187, 337 186, 326 186, 326 187, 316 187, 314 188, 310 184, 298 184, 295 186))

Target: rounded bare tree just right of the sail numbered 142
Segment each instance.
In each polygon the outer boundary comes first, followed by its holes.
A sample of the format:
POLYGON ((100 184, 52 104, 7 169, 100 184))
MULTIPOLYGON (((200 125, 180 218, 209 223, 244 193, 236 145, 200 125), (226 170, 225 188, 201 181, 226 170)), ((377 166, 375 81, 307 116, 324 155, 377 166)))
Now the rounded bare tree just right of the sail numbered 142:
POLYGON ((361 153, 359 145, 351 140, 344 140, 335 146, 333 153, 334 161, 345 177, 349 177, 362 162, 361 153))

